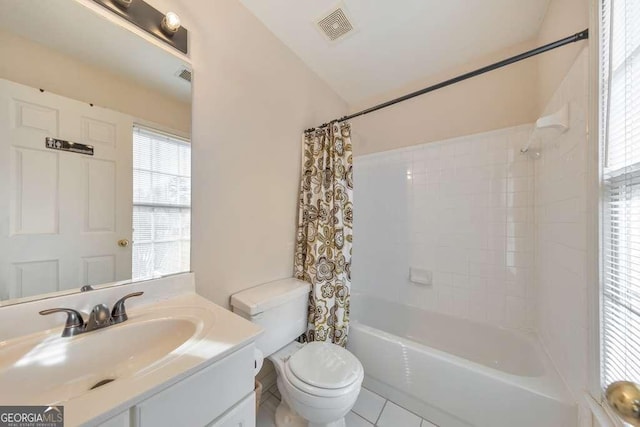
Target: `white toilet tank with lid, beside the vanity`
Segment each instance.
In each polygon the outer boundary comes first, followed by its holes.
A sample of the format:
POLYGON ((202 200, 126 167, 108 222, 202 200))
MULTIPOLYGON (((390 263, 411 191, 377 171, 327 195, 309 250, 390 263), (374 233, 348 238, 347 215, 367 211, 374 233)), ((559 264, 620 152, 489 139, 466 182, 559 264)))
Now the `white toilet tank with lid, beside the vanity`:
POLYGON ((310 291, 311 285, 301 280, 276 280, 232 295, 231 307, 262 326, 256 348, 267 357, 306 332, 310 291))

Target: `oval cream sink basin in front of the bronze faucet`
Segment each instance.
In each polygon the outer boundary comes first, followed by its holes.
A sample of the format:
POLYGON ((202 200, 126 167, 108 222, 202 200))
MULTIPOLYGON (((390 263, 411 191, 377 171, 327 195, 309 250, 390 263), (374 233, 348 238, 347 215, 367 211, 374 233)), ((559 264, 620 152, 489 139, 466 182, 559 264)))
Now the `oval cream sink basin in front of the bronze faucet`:
POLYGON ((213 320, 196 307, 150 309, 75 337, 61 337, 60 328, 0 342, 0 402, 64 404, 143 377, 187 353, 213 320))

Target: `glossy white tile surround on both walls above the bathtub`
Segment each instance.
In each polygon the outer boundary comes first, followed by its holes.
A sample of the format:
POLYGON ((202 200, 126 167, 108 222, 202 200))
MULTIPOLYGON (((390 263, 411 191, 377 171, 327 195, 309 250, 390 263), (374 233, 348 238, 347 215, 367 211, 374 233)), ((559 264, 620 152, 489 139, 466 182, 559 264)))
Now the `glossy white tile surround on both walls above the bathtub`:
MULTIPOLYGON (((546 108, 571 127, 531 128, 355 158, 353 291, 492 324, 536 329, 581 401, 588 389, 585 50, 546 108), (409 268, 433 272, 431 286, 409 268)), ((581 408, 581 425, 588 425, 581 408)))

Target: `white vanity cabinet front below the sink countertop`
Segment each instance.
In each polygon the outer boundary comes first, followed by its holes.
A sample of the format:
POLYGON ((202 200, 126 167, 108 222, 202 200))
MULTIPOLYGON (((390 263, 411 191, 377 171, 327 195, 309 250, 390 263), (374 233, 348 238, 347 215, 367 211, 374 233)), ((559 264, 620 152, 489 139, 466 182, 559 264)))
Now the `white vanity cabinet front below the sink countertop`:
POLYGON ((99 426, 254 427, 253 353, 237 350, 99 426))

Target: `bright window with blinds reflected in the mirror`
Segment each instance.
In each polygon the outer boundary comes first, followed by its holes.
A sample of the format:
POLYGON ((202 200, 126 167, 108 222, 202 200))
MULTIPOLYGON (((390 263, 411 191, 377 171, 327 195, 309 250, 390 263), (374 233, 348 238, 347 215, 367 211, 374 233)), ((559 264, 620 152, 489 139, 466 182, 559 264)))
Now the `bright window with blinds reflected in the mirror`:
POLYGON ((133 130, 134 280, 190 270, 191 145, 133 130))

